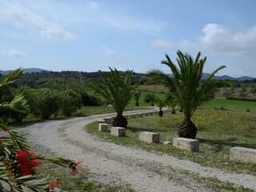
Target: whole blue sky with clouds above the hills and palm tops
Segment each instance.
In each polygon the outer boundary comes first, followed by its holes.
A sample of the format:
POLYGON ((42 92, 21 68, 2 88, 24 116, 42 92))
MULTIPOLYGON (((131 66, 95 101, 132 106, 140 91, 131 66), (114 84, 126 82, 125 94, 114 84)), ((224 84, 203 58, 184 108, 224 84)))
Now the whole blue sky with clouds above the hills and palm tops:
POLYGON ((170 73, 177 50, 204 72, 256 78, 254 0, 0 0, 0 70, 170 73))

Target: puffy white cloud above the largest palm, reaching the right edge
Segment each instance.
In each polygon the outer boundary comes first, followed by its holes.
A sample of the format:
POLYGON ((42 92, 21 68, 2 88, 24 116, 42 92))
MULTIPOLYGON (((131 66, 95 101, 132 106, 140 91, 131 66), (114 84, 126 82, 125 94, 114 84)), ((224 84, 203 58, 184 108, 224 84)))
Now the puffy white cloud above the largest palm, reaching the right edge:
POLYGON ((198 38, 198 42, 190 42, 186 39, 180 42, 155 40, 152 45, 192 53, 203 51, 210 55, 250 56, 256 61, 256 26, 234 30, 227 26, 210 23, 202 28, 202 35, 198 38))

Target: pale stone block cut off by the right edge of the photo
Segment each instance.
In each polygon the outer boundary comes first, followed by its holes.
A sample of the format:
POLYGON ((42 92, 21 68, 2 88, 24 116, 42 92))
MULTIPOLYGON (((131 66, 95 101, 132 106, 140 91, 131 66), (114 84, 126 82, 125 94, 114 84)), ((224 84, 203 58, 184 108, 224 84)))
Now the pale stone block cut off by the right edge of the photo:
POLYGON ((235 146, 230 148, 230 160, 256 162, 256 149, 235 146))

